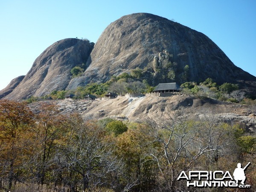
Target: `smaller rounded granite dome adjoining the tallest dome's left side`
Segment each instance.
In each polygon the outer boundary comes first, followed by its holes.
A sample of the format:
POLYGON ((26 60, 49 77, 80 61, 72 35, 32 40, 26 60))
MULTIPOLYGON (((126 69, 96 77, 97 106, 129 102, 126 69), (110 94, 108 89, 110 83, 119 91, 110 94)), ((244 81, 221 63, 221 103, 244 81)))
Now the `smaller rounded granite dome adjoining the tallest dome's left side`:
POLYGON ((52 44, 35 60, 23 81, 6 99, 21 100, 44 96, 53 90, 65 90, 71 80, 70 70, 83 63, 93 49, 87 40, 68 38, 52 44))

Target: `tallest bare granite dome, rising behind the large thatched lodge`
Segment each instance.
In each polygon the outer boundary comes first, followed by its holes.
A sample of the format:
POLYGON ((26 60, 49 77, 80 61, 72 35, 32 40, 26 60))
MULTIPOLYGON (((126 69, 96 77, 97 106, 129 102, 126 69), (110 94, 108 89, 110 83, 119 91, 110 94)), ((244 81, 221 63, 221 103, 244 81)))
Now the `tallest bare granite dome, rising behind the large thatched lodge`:
POLYGON ((153 85, 172 81, 204 81, 207 78, 214 79, 218 84, 256 81, 256 77, 236 67, 201 32, 157 15, 137 13, 123 16, 105 29, 90 54, 84 76, 72 79, 67 89, 89 82, 104 82, 113 75, 136 67, 150 67, 154 62, 158 64, 157 73, 154 66, 151 71, 145 72, 153 85), (170 72, 170 69, 161 66, 158 62, 161 58, 167 63, 175 63, 175 70, 170 72), (184 71, 186 65, 187 72, 184 71), (155 74, 150 76, 150 73, 155 74))

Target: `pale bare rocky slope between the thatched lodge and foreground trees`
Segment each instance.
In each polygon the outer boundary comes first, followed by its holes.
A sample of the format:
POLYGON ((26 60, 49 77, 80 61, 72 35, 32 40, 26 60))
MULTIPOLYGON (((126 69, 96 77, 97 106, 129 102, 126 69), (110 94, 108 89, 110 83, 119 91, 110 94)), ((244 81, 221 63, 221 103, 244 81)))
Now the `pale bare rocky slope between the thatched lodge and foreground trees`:
MULTIPOLYGON (((55 100, 42 101, 58 105, 62 113, 80 113, 84 119, 102 119, 106 117, 143 122, 146 119, 159 120, 165 116, 165 111, 177 110, 179 107, 190 108, 190 116, 200 118, 207 112, 212 116, 229 123, 240 123, 249 131, 256 131, 256 119, 252 106, 239 105, 229 102, 221 102, 214 99, 198 99, 185 95, 173 95, 170 97, 144 96, 129 97, 122 96, 117 99, 107 100, 55 100)), ((32 110, 38 111, 41 102, 29 104, 32 110)))

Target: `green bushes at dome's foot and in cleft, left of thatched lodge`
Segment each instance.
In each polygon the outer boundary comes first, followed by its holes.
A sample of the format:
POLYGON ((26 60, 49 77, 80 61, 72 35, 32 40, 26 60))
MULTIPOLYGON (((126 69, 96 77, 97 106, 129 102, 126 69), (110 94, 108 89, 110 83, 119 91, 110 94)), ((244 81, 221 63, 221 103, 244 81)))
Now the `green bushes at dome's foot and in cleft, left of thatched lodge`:
MULTIPOLYGON (((81 67, 74 67, 73 77, 81 74, 81 67), (80 72, 79 72, 80 71, 80 72)), ((68 94, 74 94, 74 99, 84 99, 87 94, 95 95, 97 97, 104 96, 108 91, 124 96, 126 93, 146 93, 154 90, 147 80, 140 80, 141 70, 136 68, 131 70, 131 75, 122 73, 119 76, 112 76, 111 79, 105 83, 90 83, 84 87, 77 87, 76 90, 54 90, 50 94, 43 97, 31 96, 26 100, 28 103, 37 102, 51 97, 52 99, 65 99, 68 94)))

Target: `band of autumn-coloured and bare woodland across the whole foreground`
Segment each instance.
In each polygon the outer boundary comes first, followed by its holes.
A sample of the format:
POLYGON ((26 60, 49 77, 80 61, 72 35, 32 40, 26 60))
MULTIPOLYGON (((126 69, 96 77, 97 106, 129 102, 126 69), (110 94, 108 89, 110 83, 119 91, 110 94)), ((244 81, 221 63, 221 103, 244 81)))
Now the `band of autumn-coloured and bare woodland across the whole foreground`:
MULTIPOLYGON (((84 120, 46 103, 33 113, 25 102, 0 100, 0 190, 177 191, 186 190, 181 171, 256 163, 254 135, 188 110, 134 123, 84 120)), ((246 176, 255 190, 253 166, 246 176)))

